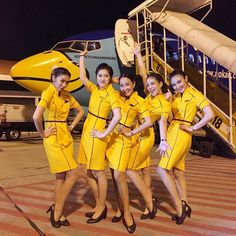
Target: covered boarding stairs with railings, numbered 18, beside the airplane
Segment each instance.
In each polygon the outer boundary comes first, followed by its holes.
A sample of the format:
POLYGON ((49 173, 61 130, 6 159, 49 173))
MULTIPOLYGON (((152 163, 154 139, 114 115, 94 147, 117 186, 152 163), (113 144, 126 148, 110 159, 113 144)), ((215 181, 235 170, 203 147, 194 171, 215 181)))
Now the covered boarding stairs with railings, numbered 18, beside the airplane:
MULTIPOLYGON (((226 144, 235 154, 236 96, 233 93, 232 77, 236 74, 236 42, 202 23, 211 9, 211 0, 147 0, 129 13, 129 19, 136 20, 136 40, 141 45, 148 71, 161 73, 168 82, 168 75, 173 68, 184 70, 190 85, 206 96, 215 112, 215 118, 206 127, 207 132, 218 140, 217 145, 226 144), (203 8, 208 10, 201 20, 189 15, 203 8), (163 30, 163 55, 154 48, 155 25, 163 30), (169 34, 175 36, 178 48, 172 58, 167 48, 169 34), (196 51, 197 63, 190 60, 189 50, 196 51), (216 67, 225 68, 226 88, 209 75, 209 60, 216 63, 216 67)), ((201 117, 202 114, 198 112, 196 119, 201 117)))

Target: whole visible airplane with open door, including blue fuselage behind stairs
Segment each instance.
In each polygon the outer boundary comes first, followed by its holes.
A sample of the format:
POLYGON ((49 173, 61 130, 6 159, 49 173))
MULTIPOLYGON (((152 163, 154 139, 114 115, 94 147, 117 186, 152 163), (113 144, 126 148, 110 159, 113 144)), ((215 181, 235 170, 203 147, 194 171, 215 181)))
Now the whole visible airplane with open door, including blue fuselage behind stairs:
MULTIPOLYGON (((11 69, 13 80, 24 88, 40 95, 50 83, 50 73, 53 67, 62 66, 71 72, 71 80, 67 89, 80 102, 87 107, 90 94, 84 88, 79 78, 79 54, 87 50, 85 57, 88 77, 96 83, 95 69, 100 63, 109 64, 114 71, 114 76, 119 76, 124 71, 135 73, 135 61, 132 53, 135 36, 136 22, 127 19, 119 19, 115 24, 115 30, 100 30, 81 33, 65 38, 56 43, 50 50, 38 53, 16 63, 11 69)), ((158 47, 163 41, 163 35, 152 33, 153 42, 158 39, 158 47)), ((158 48, 153 47, 161 56, 158 48)), ((178 38, 172 34, 167 36, 167 60, 178 61, 178 38)), ((193 47, 189 47, 186 57, 188 62, 197 66, 201 73, 203 65, 202 55, 193 47)), ((208 58, 206 58, 208 59, 208 58)), ((207 75, 212 82, 227 91, 227 72, 213 60, 207 60, 207 75)), ((236 77, 235 74, 232 75, 236 77)), ((236 81, 233 80, 233 93, 236 92, 236 81)))

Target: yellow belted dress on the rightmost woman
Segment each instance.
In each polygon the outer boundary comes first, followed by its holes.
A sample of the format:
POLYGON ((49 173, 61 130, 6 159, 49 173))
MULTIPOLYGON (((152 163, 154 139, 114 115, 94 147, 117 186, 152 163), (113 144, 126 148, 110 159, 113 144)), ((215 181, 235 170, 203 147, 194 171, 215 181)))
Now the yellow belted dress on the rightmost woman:
POLYGON ((159 166, 171 170, 177 168, 185 170, 185 157, 189 152, 192 142, 192 135, 179 128, 180 124, 191 126, 197 110, 202 110, 209 103, 203 94, 191 87, 187 88, 183 94, 176 94, 173 97, 172 113, 173 121, 167 131, 167 142, 172 148, 168 151, 168 156, 164 155, 159 166))

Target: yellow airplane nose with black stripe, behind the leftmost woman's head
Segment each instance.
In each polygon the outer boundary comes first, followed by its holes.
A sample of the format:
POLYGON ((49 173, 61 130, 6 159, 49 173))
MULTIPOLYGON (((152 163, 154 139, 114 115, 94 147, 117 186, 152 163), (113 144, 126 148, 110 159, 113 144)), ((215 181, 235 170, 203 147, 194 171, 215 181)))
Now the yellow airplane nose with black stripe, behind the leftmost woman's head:
POLYGON ((11 77, 24 88, 41 94, 50 83, 51 72, 55 67, 65 67, 71 73, 68 91, 77 90, 82 86, 79 80, 79 68, 64 54, 58 51, 45 51, 16 63, 11 77))

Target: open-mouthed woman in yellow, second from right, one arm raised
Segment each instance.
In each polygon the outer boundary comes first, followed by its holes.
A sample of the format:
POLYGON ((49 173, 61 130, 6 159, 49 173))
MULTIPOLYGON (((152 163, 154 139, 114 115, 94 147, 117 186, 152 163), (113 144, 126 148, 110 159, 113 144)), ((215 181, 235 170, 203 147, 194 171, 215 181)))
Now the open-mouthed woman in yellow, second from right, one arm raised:
MULTIPOLYGON (((135 46, 134 54, 138 60, 139 73, 143 80, 144 92, 148 95, 145 98, 145 107, 150 112, 151 121, 158 121, 160 131, 160 149, 166 150, 169 148, 166 142, 167 119, 171 111, 171 104, 166 100, 164 93, 168 92, 168 87, 164 83, 163 78, 159 74, 147 74, 143 59, 140 53, 139 45, 135 46)), ((141 171, 143 181, 150 195, 151 189, 151 158, 150 152, 154 145, 155 134, 153 127, 144 130, 138 137, 138 142, 135 142, 132 148, 132 153, 127 166, 127 175, 131 179, 136 179, 137 171, 141 171)), ((150 218, 150 213, 147 207, 141 215, 141 219, 150 218)))

